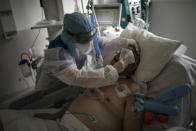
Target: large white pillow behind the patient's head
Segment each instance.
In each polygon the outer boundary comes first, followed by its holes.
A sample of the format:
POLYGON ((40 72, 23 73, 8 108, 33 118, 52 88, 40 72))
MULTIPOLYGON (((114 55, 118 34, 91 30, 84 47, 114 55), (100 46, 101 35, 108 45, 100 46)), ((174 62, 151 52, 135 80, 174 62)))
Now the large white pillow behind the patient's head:
POLYGON ((134 39, 141 48, 140 64, 134 74, 137 82, 152 81, 169 62, 180 42, 156 36, 129 24, 121 37, 134 39))

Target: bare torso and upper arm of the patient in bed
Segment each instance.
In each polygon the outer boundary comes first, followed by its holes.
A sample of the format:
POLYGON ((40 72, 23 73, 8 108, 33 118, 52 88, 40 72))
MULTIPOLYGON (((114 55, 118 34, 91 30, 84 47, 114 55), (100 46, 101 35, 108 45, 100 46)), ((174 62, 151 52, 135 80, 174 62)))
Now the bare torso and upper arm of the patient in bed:
MULTIPOLYGON (((118 84, 126 84, 132 93, 139 92, 139 86, 128 80, 119 79, 118 84)), ((96 99, 88 90, 70 106, 71 112, 84 112, 96 117, 96 124, 87 117, 75 115, 92 131, 139 131, 142 125, 142 113, 134 107, 134 97, 120 98, 115 86, 103 87, 104 99, 96 99)))

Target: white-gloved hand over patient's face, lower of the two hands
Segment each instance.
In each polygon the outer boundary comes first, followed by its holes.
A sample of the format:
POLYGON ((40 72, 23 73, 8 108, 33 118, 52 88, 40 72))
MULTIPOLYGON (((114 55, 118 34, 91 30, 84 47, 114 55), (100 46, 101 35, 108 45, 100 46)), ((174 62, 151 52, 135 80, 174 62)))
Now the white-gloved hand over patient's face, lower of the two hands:
POLYGON ((123 72, 129 64, 135 62, 135 57, 132 50, 122 48, 119 56, 119 61, 113 64, 113 67, 118 71, 118 73, 123 72))

